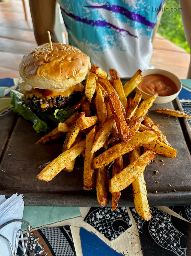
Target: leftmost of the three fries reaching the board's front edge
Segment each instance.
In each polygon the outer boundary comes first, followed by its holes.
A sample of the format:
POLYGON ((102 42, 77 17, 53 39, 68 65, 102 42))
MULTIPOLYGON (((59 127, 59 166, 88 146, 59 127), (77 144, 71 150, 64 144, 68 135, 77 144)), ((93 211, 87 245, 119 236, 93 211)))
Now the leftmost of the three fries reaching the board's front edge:
POLYGON ((96 169, 96 195, 100 206, 106 206, 109 203, 107 190, 107 170, 106 167, 96 169))

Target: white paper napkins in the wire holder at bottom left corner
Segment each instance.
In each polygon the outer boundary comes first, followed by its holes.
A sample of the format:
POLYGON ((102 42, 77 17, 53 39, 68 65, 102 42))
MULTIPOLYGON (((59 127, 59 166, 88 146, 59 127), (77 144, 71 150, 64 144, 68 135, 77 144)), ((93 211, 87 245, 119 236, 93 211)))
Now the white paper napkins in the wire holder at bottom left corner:
MULTIPOLYGON (((0 226, 9 220, 22 219, 23 209, 24 201, 22 194, 14 194, 8 199, 6 199, 4 195, 0 195, 0 226)), ((17 231, 20 228, 21 222, 13 222, 0 229, 0 234, 9 239, 13 252, 15 249, 17 231)), ((0 236, 0 256, 10 255, 11 250, 8 242, 0 236)))

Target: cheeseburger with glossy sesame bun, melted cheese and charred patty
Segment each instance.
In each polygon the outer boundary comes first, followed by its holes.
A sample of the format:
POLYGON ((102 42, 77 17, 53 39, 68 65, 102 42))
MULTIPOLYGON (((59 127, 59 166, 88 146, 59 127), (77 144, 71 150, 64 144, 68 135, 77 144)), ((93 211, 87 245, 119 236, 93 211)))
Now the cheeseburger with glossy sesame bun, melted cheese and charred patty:
POLYGON ((43 44, 24 55, 20 63, 19 90, 35 113, 66 109, 84 91, 81 83, 90 69, 90 58, 67 44, 43 44))

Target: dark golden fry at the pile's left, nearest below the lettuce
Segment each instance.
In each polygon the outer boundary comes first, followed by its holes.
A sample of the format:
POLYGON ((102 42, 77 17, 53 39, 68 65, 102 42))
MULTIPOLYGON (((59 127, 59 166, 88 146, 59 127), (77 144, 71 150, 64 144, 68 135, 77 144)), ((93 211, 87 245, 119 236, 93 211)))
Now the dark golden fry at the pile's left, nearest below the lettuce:
MULTIPOLYGON (((69 127, 73 124, 74 119, 76 118, 76 116, 78 115, 78 112, 74 113, 73 115, 71 115, 67 120, 64 121, 64 132, 68 132, 69 127), (67 125, 67 126, 66 126, 67 125), (67 128, 68 127, 68 128, 67 128)), ((37 141, 37 143, 35 143, 36 145, 42 145, 46 142, 52 141, 52 140, 57 140, 58 138, 60 138, 63 135, 63 133, 61 131, 58 130, 58 127, 56 127, 55 129, 53 129, 51 132, 47 133, 46 135, 44 135, 40 140, 37 141)))

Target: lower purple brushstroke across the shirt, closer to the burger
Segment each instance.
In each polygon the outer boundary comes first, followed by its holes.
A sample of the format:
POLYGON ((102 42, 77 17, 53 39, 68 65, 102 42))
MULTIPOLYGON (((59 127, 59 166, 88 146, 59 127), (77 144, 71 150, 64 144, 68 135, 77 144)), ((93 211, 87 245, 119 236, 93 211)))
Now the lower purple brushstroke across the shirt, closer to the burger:
POLYGON ((76 21, 79 21, 79 22, 83 22, 85 24, 88 24, 88 25, 91 25, 93 27, 107 27, 107 28, 112 28, 112 29, 115 29, 118 33, 120 32, 125 32, 127 35, 129 36, 133 36, 135 38, 138 38, 137 36, 131 34, 129 31, 125 30, 125 29, 121 29, 105 20, 98 20, 98 21, 94 21, 92 19, 88 20, 87 18, 80 18, 79 16, 76 16, 74 15, 73 13, 67 13, 63 8, 61 8, 62 11, 67 15, 69 16, 70 18, 73 18, 75 19, 76 21))

